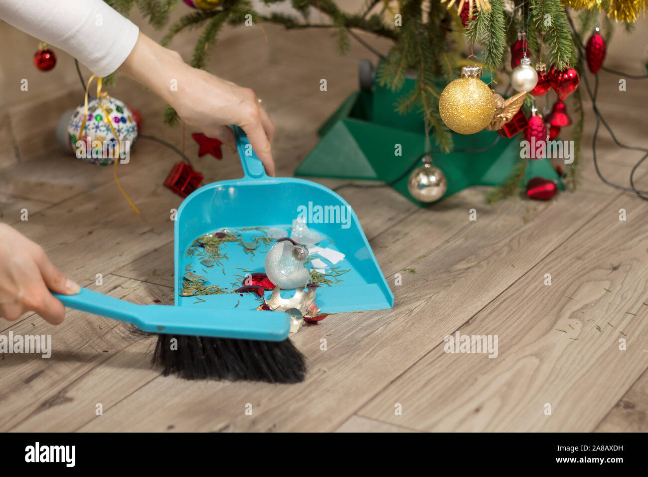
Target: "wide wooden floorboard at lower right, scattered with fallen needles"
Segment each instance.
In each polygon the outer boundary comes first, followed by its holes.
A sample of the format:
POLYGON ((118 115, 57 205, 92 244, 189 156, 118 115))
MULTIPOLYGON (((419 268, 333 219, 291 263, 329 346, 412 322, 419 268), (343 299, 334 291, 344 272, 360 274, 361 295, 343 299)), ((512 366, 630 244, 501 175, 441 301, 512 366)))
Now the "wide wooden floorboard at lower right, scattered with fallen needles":
POLYGON ((458 328, 498 335, 496 359, 440 343, 360 415, 419 430, 594 430, 648 367, 647 219, 645 202, 618 197, 458 328), (395 416, 394 402, 408 411, 395 416))

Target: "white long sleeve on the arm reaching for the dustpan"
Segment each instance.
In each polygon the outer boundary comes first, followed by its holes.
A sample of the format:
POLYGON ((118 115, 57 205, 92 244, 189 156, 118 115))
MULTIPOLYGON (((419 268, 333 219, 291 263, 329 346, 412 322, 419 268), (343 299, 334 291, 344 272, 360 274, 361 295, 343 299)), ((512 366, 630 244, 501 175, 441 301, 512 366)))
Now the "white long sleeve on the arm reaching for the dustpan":
POLYGON ((103 0, 0 0, 0 18, 67 51, 98 77, 121 66, 139 34, 103 0))

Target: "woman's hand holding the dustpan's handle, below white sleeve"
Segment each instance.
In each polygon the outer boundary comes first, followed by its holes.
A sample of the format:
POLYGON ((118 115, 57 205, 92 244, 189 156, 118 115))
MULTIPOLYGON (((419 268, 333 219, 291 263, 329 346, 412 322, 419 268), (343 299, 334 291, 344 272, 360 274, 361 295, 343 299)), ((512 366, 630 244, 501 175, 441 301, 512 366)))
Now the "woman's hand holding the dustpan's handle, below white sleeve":
POLYGON ((266 173, 275 174, 270 151, 275 125, 249 88, 192 68, 178 53, 161 47, 141 32, 118 71, 157 93, 183 121, 209 137, 233 144, 234 133, 227 126, 240 126, 266 173))

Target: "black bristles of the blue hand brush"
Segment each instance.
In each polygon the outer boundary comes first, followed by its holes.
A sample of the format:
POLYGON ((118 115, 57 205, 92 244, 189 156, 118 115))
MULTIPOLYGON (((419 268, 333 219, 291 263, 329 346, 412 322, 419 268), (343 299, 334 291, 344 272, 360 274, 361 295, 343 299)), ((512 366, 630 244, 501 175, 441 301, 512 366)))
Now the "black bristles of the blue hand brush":
POLYGON ((159 334, 153 364, 161 365, 165 376, 178 374, 190 380, 296 383, 306 376, 304 355, 287 338, 254 341, 159 334))

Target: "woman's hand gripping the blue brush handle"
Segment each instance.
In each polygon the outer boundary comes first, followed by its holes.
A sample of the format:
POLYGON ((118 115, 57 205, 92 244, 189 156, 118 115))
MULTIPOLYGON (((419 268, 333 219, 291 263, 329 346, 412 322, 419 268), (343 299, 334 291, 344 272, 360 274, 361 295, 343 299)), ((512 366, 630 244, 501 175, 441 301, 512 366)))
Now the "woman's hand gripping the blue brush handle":
POLYGON ((65 307, 49 290, 75 295, 79 286, 47 259, 43 249, 8 225, 0 224, 0 317, 15 321, 28 311, 60 324, 65 307))

